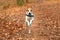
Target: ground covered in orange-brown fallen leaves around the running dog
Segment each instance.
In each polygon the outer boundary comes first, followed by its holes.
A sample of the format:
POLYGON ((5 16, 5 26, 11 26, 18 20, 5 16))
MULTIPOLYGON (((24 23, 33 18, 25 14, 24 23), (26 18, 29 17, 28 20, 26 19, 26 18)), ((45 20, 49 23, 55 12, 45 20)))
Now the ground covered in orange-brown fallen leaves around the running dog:
POLYGON ((0 40, 60 40, 59 0, 30 0, 22 6, 0 10, 0 40), (35 15, 31 34, 25 24, 25 12, 29 7, 35 15))

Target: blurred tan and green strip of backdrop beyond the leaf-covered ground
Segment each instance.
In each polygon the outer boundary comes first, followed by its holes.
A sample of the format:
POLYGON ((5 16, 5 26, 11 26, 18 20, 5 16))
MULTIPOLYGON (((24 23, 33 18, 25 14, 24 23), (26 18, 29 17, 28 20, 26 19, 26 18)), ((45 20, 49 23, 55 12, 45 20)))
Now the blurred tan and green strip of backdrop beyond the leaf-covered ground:
POLYGON ((59 0, 0 0, 0 10, 1 9, 7 9, 10 7, 15 7, 15 6, 22 6, 26 3, 43 3, 45 1, 59 1, 59 0))

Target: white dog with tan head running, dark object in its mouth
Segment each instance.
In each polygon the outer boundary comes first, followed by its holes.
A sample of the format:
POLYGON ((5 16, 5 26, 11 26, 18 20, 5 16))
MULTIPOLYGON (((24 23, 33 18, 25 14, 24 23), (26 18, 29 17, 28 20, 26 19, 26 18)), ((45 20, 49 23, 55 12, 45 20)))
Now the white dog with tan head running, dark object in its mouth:
POLYGON ((26 11, 26 17, 25 17, 25 22, 28 26, 28 32, 30 32, 30 27, 31 27, 31 24, 33 23, 33 20, 34 20, 34 14, 32 13, 32 9, 31 8, 28 8, 27 11, 26 11))

